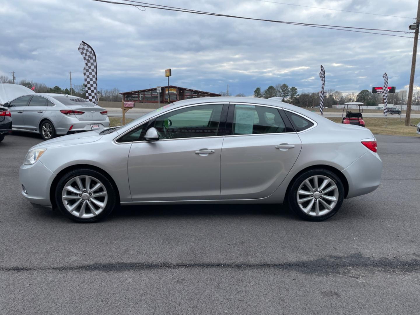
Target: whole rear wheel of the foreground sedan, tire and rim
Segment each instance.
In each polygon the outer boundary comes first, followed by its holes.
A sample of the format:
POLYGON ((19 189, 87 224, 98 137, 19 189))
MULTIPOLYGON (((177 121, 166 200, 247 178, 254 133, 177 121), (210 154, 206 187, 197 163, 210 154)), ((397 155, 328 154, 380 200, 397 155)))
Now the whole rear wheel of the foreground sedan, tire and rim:
POLYGON ((340 178, 322 168, 302 173, 288 195, 293 212, 310 221, 331 218, 340 209, 343 199, 344 186, 340 178))

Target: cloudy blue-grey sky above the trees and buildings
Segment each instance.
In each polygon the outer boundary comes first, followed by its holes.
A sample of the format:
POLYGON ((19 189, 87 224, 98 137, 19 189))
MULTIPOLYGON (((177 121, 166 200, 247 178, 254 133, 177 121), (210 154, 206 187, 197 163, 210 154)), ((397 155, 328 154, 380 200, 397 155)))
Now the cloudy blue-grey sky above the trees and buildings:
MULTIPOLYGON (((115 0, 124 2, 120 0, 115 0)), ((407 31, 417 1, 377 0, 149 0, 150 3, 252 18, 407 31)), ((255 87, 286 83, 299 92, 359 92, 409 83, 413 40, 288 24, 203 16, 92 0, 0 0, 0 75, 68 87, 83 83, 83 40, 97 55, 98 87, 121 91, 171 84, 252 95, 255 87)), ((402 36, 412 34, 396 33, 402 36)), ((417 69, 415 85, 420 85, 417 69)))

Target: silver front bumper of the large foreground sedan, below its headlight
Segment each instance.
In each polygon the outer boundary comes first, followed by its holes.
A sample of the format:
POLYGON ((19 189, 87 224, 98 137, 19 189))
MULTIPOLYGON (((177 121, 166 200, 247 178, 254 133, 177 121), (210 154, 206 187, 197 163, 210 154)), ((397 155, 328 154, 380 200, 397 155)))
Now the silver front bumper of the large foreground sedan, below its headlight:
POLYGON ((22 164, 19 169, 19 181, 26 190, 25 193, 22 189, 22 195, 33 204, 50 207, 50 187, 54 176, 41 161, 32 165, 22 164))

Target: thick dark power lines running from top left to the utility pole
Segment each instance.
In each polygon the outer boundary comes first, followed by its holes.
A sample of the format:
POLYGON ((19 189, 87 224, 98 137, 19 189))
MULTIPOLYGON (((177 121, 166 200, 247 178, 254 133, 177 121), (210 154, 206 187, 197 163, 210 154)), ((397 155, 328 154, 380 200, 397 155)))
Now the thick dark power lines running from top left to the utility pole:
POLYGON ((110 3, 110 4, 130 5, 130 6, 134 6, 134 7, 160 9, 160 10, 166 10, 166 11, 176 11, 176 12, 194 13, 194 14, 202 14, 202 15, 210 15, 210 16, 222 16, 222 17, 228 17, 228 18, 240 18, 240 19, 253 20, 253 21, 264 21, 264 22, 272 22, 272 23, 291 24, 291 25, 300 25, 300 26, 308 26, 308 27, 318 27, 318 28, 321 28, 321 29, 335 29, 335 30, 347 31, 347 32, 357 32, 357 33, 367 33, 367 34, 376 34, 376 35, 385 35, 385 36, 394 36, 394 37, 413 38, 413 37, 409 37, 409 36, 401 36, 401 35, 393 35, 393 34, 356 31, 354 29, 378 30, 378 31, 382 31, 382 32, 399 32, 399 33, 404 33, 404 34, 411 33, 411 32, 396 31, 396 30, 367 29, 367 28, 362 28, 362 27, 334 26, 334 25, 323 25, 323 24, 310 24, 310 23, 300 23, 300 22, 277 21, 277 20, 268 20, 268 19, 262 19, 262 18, 247 18, 247 17, 244 17, 244 16, 233 16, 233 15, 227 15, 227 14, 221 14, 221 13, 213 13, 213 12, 197 11, 197 10, 190 10, 190 9, 183 9, 183 8, 175 8, 175 7, 169 7, 169 6, 166 6, 166 5, 155 5, 155 4, 143 3, 143 2, 131 1, 131 0, 122 0, 122 1, 139 3, 139 4, 121 3, 121 2, 111 1, 111 0, 92 0, 92 1, 104 2, 104 3, 110 3), (151 6, 151 5, 153 5, 153 6, 151 6))

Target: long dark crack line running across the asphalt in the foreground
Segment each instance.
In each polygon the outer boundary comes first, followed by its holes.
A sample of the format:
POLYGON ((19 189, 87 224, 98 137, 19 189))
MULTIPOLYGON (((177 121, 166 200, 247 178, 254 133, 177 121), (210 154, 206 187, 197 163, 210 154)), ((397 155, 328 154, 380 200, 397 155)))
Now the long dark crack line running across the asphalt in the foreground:
POLYGON ((411 273, 420 271, 420 259, 401 260, 399 258, 373 258, 361 254, 348 256, 328 256, 315 260, 285 263, 151 263, 151 262, 111 262, 90 265, 62 267, 0 267, 2 272, 24 271, 100 271, 123 272, 136 270, 163 270, 189 268, 225 268, 225 269, 276 269, 296 271, 305 274, 346 274, 355 269, 369 269, 379 272, 411 273))

